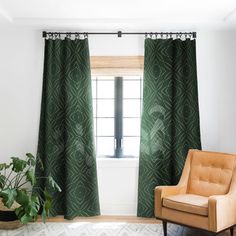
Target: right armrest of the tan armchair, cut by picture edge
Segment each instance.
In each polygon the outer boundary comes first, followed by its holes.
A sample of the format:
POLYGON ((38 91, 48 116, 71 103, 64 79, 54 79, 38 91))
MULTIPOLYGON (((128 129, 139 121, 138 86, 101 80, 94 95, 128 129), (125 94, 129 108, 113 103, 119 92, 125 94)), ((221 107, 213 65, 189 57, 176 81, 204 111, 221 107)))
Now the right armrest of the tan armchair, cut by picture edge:
POLYGON ((236 224, 236 193, 210 196, 208 200, 209 229, 218 232, 236 224))

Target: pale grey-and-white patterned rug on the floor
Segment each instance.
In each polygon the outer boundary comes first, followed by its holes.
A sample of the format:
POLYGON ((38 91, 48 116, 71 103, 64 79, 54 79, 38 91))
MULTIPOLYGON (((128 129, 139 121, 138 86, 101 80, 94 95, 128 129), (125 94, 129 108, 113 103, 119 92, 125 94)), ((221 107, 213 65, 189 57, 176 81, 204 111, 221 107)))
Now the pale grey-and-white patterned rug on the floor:
MULTIPOLYGON (((201 231, 168 224, 168 236, 208 236, 201 231)), ((225 232, 220 235, 229 235, 225 232)), ((0 230, 0 236, 163 236, 161 224, 131 223, 30 223, 16 230, 0 230)))

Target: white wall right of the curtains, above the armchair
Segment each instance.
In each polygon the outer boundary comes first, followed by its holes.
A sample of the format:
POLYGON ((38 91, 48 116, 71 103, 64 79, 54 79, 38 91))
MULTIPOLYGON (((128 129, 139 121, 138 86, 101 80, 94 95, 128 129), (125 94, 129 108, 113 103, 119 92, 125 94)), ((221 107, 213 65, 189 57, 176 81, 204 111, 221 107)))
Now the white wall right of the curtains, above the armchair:
POLYGON ((236 32, 199 33, 197 55, 203 148, 236 153, 236 32))

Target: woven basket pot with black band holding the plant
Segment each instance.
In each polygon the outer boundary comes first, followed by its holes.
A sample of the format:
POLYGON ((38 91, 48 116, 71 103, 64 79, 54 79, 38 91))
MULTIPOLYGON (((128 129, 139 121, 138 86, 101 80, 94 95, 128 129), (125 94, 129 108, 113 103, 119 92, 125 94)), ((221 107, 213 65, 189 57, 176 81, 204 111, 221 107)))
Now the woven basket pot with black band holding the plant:
POLYGON ((15 209, 19 204, 14 203, 10 209, 4 206, 0 198, 0 229, 17 229, 23 224, 18 220, 15 209))

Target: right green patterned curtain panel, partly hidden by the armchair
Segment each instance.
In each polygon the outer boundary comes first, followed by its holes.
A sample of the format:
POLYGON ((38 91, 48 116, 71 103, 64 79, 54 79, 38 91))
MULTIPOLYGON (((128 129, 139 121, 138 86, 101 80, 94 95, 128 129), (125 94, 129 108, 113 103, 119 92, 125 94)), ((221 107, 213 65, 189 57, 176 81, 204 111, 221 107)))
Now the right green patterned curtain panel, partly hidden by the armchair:
POLYGON ((154 188, 177 184, 201 149, 195 40, 146 39, 138 216, 154 216, 154 188))

